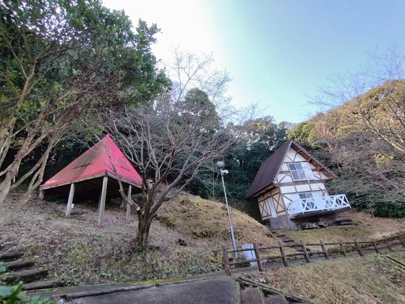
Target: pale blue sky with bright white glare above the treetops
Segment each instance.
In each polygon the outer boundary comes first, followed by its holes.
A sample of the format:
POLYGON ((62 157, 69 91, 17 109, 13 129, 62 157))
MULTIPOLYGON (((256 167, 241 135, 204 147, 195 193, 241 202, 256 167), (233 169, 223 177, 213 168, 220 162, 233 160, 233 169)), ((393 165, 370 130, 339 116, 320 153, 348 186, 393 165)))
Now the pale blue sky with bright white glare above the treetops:
POLYGON ((233 78, 238 105, 260 102, 277 122, 300 122, 317 110, 308 95, 327 75, 356 71, 392 43, 405 45, 405 1, 105 0, 161 28, 154 52, 173 46, 213 52, 233 78))

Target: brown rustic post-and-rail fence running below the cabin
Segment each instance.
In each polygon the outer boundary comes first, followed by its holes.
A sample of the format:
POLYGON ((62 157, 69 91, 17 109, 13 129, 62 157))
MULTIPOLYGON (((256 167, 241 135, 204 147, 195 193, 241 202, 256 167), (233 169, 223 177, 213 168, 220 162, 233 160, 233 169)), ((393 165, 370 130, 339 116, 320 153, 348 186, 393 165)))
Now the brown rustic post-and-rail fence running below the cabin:
POLYGON ((246 248, 246 249, 236 249, 236 250, 227 250, 226 246, 222 246, 222 254, 223 254, 223 261, 224 261, 224 268, 225 268, 225 273, 230 276, 230 266, 231 265, 236 265, 236 264, 244 264, 244 263, 249 263, 249 262, 257 262, 257 268, 259 271, 263 271, 263 263, 262 261, 264 259, 267 260, 267 263, 269 260, 282 260, 282 264, 284 264, 285 267, 289 265, 289 260, 291 260, 291 257, 296 257, 296 256, 304 256, 305 261, 309 263, 310 256, 312 255, 323 255, 326 259, 330 258, 330 254, 334 253, 339 253, 343 255, 344 257, 347 256, 347 253, 349 252, 355 252, 357 251, 359 256, 363 256, 364 252, 367 250, 373 250, 376 253, 380 253, 380 249, 387 248, 388 250, 392 250, 391 246, 394 246, 396 244, 401 244, 403 248, 405 248, 405 233, 398 233, 395 236, 391 237, 383 237, 380 240, 370 240, 370 241, 361 241, 358 242, 356 239, 353 239, 352 242, 348 241, 338 241, 338 242, 324 242, 322 240, 319 241, 319 243, 305 243, 303 240, 300 241, 300 244, 283 244, 282 241, 278 241, 278 245, 273 245, 273 246, 258 246, 256 243, 253 244, 253 248, 246 248), (382 245, 380 245, 382 244, 382 245), (326 246, 329 245, 339 245, 339 249, 332 249, 332 250, 327 250, 326 246), (349 247, 350 245, 350 247, 349 247), (369 246, 367 246, 369 245, 369 246), (319 246, 322 250, 320 251, 312 251, 308 250, 307 246, 319 246), (302 252, 297 252, 297 253, 290 253, 286 254, 285 248, 286 247, 300 247, 302 248, 302 252), (269 256, 262 256, 260 254, 260 250, 266 250, 266 249, 279 249, 280 250, 280 255, 269 255, 269 256), (228 253, 234 253, 234 252, 243 252, 243 251, 254 251, 256 258, 255 259, 234 259, 233 257, 229 258, 228 253), (290 259, 289 259, 290 258, 290 259))

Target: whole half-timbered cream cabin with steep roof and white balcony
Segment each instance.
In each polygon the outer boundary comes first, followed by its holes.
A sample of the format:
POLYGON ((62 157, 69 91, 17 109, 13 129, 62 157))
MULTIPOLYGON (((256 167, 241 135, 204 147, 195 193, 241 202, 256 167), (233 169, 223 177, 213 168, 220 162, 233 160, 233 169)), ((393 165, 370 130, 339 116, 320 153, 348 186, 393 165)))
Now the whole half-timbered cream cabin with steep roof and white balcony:
POLYGON ((350 208, 346 195, 330 196, 325 185, 336 175, 290 140, 260 167, 247 198, 257 199, 271 228, 296 229, 300 222, 336 217, 350 208))

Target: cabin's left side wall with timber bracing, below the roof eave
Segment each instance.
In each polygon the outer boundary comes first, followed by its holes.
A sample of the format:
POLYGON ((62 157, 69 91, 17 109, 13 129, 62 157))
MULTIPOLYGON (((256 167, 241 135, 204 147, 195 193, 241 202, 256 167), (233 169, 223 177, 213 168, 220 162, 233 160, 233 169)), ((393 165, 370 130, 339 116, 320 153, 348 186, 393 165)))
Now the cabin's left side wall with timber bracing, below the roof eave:
POLYGON ((275 187, 257 198, 262 220, 287 215, 280 189, 275 187))

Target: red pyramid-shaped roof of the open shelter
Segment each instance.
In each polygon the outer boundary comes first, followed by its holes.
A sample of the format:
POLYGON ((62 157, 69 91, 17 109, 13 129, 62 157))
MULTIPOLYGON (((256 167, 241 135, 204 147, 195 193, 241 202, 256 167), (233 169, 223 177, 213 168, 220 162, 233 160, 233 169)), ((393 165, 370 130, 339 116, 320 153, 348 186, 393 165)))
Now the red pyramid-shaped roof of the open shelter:
POLYGON ((66 184, 104 172, 115 176, 111 161, 115 165, 118 176, 121 179, 136 185, 142 184, 142 178, 139 176, 138 172, 132 167, 131 163, 112 141, 111 137, 107 135, 84 154, 80 155, 56 175, 47 180, 41 187, 66 184), (111 159, 108 156, 107 149, 111 159))

